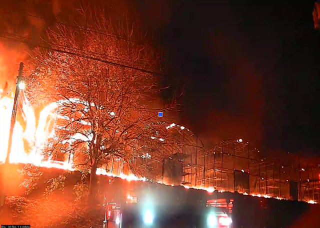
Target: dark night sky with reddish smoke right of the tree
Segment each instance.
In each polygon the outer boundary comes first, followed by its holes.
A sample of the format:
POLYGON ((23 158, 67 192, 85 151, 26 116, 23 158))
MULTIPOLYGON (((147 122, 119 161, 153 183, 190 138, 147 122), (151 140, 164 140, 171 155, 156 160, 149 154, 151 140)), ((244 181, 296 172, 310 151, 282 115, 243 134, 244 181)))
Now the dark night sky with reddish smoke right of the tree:
MULTIPOLYGON (((74 1, 54 0, 53 11, 74 1)), ((103 2, 121 12, 119 1, 103 2)), ((320 34, 313 28, 314 0, 123 1, 142 15, 167 52, 163 83, 176 90, 185 85, 179 123, 207 145, 234 137, 267 153, 318 151, 320 34)), ((26 10, 12 3, 17 5, 26 10)))

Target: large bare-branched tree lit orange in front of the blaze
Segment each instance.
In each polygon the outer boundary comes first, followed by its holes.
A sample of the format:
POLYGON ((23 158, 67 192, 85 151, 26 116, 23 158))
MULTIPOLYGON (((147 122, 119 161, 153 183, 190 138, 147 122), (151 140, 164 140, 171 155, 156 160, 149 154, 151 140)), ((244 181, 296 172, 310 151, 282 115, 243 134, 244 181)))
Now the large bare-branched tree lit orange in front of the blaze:
POLYGON ((158 110, 149 109, 159 92, 151 72, 161 70, 161 58, 152 45, 134 41, 145 39, 139 24, 114 26, 97 14, 85 21, 90 27, 58 23, 47 31, 51 50, 32 53, 28 96, 57 105, 45 158, 71 159, 88 171, 92 193, 97 168, 119 158, 143 176, 143 167, 133 165, 137 142, 152 145, 157 142, 151 136, 169 136, 158 110))

